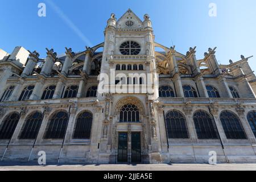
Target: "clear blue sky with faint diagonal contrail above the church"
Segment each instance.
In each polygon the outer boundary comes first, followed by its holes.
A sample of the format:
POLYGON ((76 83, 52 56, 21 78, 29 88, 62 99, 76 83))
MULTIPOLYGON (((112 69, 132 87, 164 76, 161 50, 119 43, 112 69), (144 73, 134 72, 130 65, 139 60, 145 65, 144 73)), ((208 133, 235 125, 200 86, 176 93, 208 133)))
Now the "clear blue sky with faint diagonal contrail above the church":
POLYGON ((65 47, 84 51, 85 46, 104 42, 104 28, 111 13, 120 18, 131 9, 139 18, 149 14, 155 41, 185 54, 197 46, 197 59, 209 47, 217 47, 221 64, 229 59, 249 57, 256 70, 255 0, 1 0, 0 48, 11 53, 15 46, 38 51, 46 56, 46 47, 63 53, 65 47), (38 16, 38 4, 46 3, 46 17, 38 16), (216 3, 217 16, 210 17, 209 3, 216 3))

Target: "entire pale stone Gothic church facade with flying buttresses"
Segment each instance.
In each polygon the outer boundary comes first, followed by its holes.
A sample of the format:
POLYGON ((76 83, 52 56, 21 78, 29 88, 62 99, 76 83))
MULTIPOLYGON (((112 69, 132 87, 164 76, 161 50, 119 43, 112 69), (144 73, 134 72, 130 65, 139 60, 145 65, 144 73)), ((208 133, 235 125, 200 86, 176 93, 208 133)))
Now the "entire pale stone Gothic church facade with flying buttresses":
POLYGON ((0 49, 0 160, 256 163, 256 77, 155 42, 150 17, 112 14, 105 40, 58 56, 0 49), (156 51, 162 49, 162 51, 156 51), (102 50, 102 51, 100 51, 102 50))

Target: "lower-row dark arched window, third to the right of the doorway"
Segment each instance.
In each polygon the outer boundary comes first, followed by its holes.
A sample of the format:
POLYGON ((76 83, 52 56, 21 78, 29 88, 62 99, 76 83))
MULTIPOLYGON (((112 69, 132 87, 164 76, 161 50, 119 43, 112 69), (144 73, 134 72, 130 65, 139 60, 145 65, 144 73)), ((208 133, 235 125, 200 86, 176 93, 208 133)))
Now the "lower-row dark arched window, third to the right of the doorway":
POLYGON ((245 131, 240 119, 230 111, 223 111, 220 115, 222 127, 228 139, 246 139, 245 131))

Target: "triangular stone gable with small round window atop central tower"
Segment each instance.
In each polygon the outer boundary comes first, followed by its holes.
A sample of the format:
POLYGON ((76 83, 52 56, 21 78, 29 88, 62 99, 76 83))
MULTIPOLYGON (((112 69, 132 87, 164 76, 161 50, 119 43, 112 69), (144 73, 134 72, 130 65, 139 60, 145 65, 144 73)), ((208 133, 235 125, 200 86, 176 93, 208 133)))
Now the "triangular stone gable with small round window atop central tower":
POLYGON ((117 28, 142 28, 143 22, 130 9, 117 21, 117 28))

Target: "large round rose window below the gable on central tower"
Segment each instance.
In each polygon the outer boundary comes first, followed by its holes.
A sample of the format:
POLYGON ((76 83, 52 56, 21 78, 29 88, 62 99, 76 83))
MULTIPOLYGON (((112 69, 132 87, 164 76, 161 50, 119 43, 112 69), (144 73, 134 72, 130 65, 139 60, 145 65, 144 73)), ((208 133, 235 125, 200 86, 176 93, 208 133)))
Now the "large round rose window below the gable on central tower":
POLYGON ((141 46, 137 42, 127 41, 121 44, 119 51, 122 55, 138 55, 141 52, 141 46))

